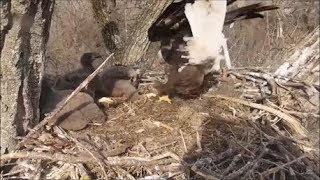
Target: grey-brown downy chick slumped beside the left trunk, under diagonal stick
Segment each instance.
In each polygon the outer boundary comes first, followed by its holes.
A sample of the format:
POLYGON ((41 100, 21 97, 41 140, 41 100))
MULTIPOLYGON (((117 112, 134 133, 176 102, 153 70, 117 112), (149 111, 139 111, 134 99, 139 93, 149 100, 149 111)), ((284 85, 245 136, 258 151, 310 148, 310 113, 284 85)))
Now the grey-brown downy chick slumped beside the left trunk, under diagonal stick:
MULTIPOLYGON (((40 96, 40 114, 43 119, 47 113, 51 113, 59 107, 63 101, 72 93, 72 90, 56 90, 54 82, 46 76, 42 80, 40 96)), ((66 130, 84 129, 90 122, 103 123, 104 113, 94 103, 93 98, 79 92, 68 104, 58 113, 55 124, 66 130)))

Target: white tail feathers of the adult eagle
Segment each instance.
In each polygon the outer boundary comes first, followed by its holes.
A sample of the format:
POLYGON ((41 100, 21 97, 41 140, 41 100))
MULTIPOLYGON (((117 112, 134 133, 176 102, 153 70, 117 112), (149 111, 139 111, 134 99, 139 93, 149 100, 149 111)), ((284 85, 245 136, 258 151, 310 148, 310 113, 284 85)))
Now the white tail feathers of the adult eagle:
POLYGON ((190 64, 203 64, 207 59, 215 59, 220 55, 225 41, 222 29, 226 11, 226 0, 197 0, 193 4, 186 4, 185 14, 193 35, 184 38, 190 64))

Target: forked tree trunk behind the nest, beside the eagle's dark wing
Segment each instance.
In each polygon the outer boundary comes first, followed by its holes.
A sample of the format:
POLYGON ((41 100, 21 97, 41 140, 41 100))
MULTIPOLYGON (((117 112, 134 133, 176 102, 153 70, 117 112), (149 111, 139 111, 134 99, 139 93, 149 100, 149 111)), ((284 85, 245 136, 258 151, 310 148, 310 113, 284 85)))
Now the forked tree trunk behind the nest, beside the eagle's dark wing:
POLYGON ((115 52, 113 63, 135 64, 145 55, 148 46, 148 29, 172 0, 141 0, 105 3, 103 0, 91 0, 96 19, 103 24, 103 36, 109 50, 115 52), (111 23, 112 22, 112 23, 111 23), (115 22, 115 23, 114 23, 115 22), (111 27, 111 24, 115 24, 111 27), (107 26, 106 26, 107 25, 107 26), (121 43, 110 41, 119 35, 121 43))

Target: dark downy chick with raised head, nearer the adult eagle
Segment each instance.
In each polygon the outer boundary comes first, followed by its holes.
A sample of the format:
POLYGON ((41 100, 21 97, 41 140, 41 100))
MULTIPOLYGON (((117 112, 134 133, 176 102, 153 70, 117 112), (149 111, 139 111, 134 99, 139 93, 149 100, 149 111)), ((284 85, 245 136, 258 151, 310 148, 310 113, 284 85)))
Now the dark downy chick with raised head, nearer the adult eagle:
MULTIPOLYGON (((59 78, 55 88, 58 90, 76 89, 103 62, 97 53, 85 53, 81 57, 81 68, 59 78)), ((83 92, 95 100, 101 97, 124 97, 131 99, 139 84, 140 70, 115 65, 104 69, 83 92)))

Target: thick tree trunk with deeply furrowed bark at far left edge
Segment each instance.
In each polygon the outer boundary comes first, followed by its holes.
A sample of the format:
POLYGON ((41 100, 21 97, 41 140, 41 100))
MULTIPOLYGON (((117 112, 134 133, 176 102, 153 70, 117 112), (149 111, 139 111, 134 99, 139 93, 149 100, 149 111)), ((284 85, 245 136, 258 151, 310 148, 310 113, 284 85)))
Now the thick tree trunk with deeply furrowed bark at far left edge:
POLYGON ((54 0, 1 1, 1 153, 39 121, 40 79, 54 0))

